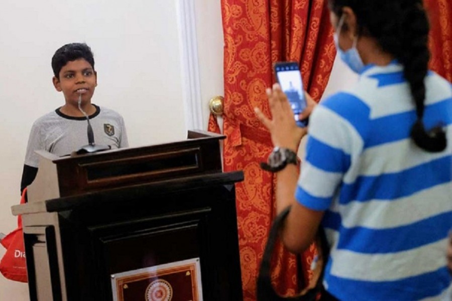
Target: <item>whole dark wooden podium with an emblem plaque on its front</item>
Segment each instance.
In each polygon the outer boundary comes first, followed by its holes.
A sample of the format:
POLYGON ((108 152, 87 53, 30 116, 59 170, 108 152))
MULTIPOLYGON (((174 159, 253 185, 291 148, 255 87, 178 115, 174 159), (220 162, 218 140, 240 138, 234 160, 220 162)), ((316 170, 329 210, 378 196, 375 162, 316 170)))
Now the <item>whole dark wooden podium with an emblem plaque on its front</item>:
POLYGON ((242 300, 234 184, 219 142, 46 152, 24 224, 31 300, 242 300))

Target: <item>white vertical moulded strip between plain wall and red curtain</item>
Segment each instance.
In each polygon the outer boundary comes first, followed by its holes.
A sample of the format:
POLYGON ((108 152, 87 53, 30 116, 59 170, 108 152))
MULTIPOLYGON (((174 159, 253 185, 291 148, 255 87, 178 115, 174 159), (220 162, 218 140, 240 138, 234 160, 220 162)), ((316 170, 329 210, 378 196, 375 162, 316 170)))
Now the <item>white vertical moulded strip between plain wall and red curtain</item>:
POLYGON ((176 0, 183 97, 188 129, 206 129, 209 100, 223 94, 223 31, 220 1, 176 0))

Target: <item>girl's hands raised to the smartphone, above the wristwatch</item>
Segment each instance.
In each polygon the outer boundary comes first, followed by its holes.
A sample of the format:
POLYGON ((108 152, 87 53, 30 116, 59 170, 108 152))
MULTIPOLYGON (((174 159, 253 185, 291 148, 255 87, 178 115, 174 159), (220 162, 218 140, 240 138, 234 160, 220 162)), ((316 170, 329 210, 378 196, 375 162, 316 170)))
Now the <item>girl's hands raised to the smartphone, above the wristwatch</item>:
MULTIPOLYGON (((300 119, 309 116, 316 104, 309 94, 305 93, 305 95, 307 107, 300 114, 300 119)), ((279 84, 274 84, 273 89, 267 89, 267 96, 272 120, 268 119, 261 110, 255 108, 257 117, 270 131, 273 145, 289 148, 297 152, 298 144, 307 133, 307 128, 299 127, 295 123, 292 108, 279 84)))

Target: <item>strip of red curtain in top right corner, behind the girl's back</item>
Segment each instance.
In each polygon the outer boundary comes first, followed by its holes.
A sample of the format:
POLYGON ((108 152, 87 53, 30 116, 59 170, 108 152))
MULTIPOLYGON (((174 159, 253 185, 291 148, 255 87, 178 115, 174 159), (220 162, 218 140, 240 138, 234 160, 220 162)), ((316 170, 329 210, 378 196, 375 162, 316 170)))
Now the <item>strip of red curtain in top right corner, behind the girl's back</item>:
POLYGON ((430 19, 430 69, 452 82, 452 2, 424 0, 430 19))

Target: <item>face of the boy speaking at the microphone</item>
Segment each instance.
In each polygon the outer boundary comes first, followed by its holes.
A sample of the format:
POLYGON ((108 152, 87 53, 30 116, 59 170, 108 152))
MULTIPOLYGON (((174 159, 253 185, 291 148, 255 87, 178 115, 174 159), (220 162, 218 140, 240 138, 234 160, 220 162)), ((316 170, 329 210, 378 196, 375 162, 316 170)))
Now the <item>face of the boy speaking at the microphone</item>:
POLYGON ((67 62, 59 77, 53 77, 53 85, 58 92, 63 92, 66 103, 77 104, 80 94, 82 103, 91 101, 97 86, 97 74, 85 59, 67 62))

